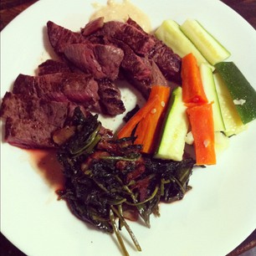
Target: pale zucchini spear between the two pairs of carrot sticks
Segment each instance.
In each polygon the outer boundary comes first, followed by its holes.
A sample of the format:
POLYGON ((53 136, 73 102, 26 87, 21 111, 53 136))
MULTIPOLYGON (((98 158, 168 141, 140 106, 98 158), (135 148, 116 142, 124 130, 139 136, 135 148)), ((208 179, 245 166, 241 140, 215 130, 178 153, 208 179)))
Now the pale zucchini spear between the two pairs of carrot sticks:
POLYGON ((172 98, 166 110, 156 158, 182 161, 188 130, 186 110, 187 107, 182 102, 182 87, 177 87, 172 91, 172 98))

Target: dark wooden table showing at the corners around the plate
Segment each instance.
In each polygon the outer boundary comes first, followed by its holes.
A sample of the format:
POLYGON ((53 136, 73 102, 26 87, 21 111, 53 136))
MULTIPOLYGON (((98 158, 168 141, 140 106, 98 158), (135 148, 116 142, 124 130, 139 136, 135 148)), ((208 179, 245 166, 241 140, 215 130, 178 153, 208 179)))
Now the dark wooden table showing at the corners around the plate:
MULTIPOLYGON (((53 0, 54 1, 54 0, 53 0)), ((0 3, 0 15, 1 15, 1 28, 2 30, 13 18, 19 13, 23 12, 24 9, 35 3, 35 0, 1 0, 0 3)), ((256 29, 256 0, 223 0, 229 7, 233 8, 253 28, 256 29)), ((256 231, 254 231, 243 243, 238 245, 233 252, 228 253, 228 256, 238 256, 244 252, 251 252, 251 249, 256 247, 256 231)), ((0 255, 8 256, 24 256, 24 254, 18 250, 8 239, 4 238, 3 234, 0 234, 0 255)), ((248 253, 249 254, 249 253, 248 253)), ((253 254, 250 254, 253 255, 253 254)))

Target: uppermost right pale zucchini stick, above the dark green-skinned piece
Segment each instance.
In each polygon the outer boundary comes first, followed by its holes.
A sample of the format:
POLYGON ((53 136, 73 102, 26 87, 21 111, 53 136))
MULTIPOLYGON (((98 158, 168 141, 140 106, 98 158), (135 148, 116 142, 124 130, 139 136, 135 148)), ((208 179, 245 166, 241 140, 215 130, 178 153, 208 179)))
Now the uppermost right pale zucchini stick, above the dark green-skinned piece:
POLYGON ((212 34, 208 33, 197 20, 187 19, 180 28, 210 64, 217 64, 230 56, 228 50, 212 34))

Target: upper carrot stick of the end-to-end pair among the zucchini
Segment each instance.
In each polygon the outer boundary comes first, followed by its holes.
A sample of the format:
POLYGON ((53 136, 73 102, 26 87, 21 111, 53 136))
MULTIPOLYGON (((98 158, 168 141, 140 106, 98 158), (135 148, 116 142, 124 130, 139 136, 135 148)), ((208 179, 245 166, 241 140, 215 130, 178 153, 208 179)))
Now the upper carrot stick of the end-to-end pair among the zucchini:
POLYGON ((207 103, 197 59, 193 54, 182 58, 182 100, 188 105, 207 103))

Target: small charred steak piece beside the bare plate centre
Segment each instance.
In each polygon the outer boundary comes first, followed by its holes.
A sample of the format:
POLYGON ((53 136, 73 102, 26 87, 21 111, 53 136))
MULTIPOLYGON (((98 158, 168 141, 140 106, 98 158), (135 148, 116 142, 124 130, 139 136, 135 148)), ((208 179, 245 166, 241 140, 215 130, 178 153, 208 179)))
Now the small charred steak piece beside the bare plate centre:
POLYGON ((102 111, 109 115, 120 115, 125 112, 120 90, 110 79, 99 80, 99 95, 102 111))

